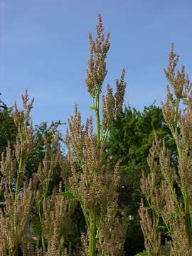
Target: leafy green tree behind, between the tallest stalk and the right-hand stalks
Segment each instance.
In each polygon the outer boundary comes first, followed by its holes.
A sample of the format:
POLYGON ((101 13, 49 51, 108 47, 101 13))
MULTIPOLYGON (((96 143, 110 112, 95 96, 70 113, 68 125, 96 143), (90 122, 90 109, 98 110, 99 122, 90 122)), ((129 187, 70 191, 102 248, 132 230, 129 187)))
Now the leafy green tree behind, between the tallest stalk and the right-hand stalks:
MULTIPOLYGON (((119 186, 119 205, 128 206, 129 216, 132 216, 127 228, 125 249, 127 255, 134 255, 144 249, 144 238, 139 223, 139 204, 142 198, 140 178, 142 172, 149 173, 146 158, 154 139, 154 130, 159 137, 171 136, 164 124, 164 117, 160 107, 151 105, 143 112, 125 107, 117 115, 108 139, 107 151, 115 163, 122 159, 119 169, 121 176, 119 186), (134 234, 134 236, 133 236, 134 234)), ((174 150, 171 139, 167 139, 169 148, 174 150)))

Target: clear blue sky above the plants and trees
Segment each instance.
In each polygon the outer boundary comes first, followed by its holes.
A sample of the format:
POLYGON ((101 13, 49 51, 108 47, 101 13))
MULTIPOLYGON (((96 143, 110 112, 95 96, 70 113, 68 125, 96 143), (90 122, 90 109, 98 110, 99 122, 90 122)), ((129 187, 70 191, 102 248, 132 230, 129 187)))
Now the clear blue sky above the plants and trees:
POLYGON ((66 122, 77 102, 89 110, 88 32, 97 14, 111 33, 105 85, 126 69, 125 104, 138 110, 165 99, 171 42, 191 74, 191 0, 0 0, 0 92, 8 105, 28 89, 33 119, 66 122))

